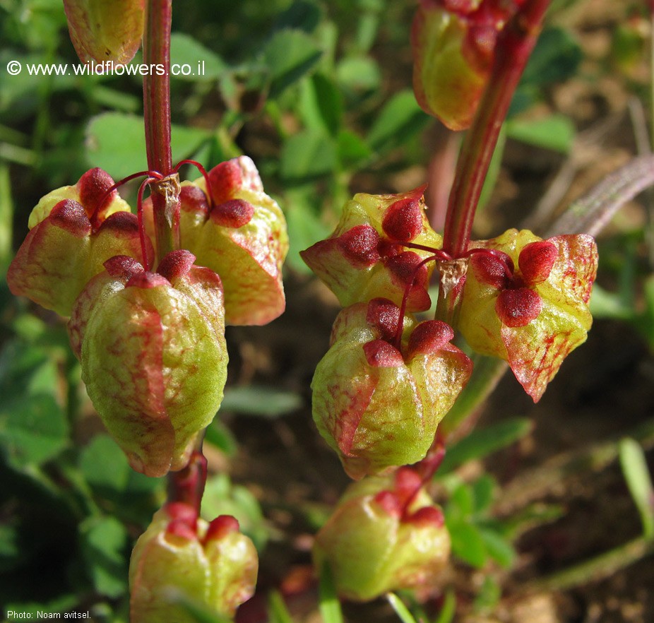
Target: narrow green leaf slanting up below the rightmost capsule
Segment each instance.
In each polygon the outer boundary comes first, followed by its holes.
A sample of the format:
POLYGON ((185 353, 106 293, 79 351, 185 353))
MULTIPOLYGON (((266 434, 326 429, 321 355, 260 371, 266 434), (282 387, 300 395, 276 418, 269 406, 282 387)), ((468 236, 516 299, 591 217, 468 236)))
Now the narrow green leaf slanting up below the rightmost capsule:
POLYGON ((436 472, 436 477, 441 477, 452 470, 455 470, 463 463, 489 456, 490 454, 510 446, 522 439, 531 432, 532 422, 526 417, 516 417, 505 422, 475 429, 458 443, 450 446, 445 454, 445 459, 436 472))

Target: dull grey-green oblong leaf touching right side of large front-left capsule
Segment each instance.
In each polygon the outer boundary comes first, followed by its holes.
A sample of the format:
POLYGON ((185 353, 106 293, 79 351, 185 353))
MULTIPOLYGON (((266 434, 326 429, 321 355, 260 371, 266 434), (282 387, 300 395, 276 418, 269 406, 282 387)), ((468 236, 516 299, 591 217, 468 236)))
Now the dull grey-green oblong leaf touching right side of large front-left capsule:
POLYGON ((220 409, 274 419, 297 411, 300 407, 302 397, 295 392, 262 385, 246 385, 226 388, 220 409))

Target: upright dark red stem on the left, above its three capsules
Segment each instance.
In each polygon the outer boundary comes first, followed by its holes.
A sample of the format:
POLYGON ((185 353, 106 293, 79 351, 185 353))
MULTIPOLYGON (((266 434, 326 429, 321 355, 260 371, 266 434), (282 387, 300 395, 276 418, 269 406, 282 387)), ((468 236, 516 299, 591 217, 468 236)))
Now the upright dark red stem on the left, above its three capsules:
POLYGON ((143 117, 148 169, 163 178, 150 184, 155 220, 156 263, 179 249, 179 176, 170 147, 170 26, 172 0, 148 0, 143 32, 143 117), (160 71, 163 68, 164 71, 160 71))

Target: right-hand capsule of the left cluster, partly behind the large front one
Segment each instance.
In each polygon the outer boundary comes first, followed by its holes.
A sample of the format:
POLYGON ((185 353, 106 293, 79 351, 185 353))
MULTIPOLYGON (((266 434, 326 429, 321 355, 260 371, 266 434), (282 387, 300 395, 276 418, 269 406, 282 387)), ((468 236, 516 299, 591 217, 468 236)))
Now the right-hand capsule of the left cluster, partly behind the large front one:
MULTIPOLYGON (((282 210, 263 191, 263 184, 246 156, 233 158, 202 177, 184 182, 179 196, 179 235, 200 266, 222 278, 225 322, 266 324, 286 305, 282 266, 288 252, 282 210)), ((149 232, 153 232, 152 203, 143 203, 149 232)))

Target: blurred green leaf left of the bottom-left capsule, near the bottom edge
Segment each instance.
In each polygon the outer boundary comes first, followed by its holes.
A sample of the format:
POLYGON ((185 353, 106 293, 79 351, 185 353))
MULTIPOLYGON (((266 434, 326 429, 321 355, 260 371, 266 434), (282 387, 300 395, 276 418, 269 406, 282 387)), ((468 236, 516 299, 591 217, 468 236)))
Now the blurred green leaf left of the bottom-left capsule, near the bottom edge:
POLYGON ((114 517, 90 517, 80 524, 81 551, 95 590, 110 598, 127 591, 127 530, 114 517))

